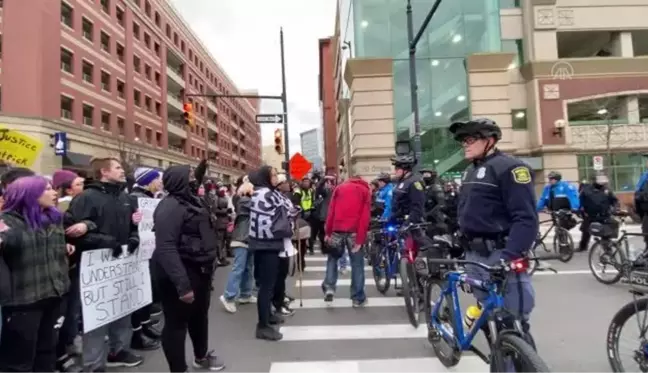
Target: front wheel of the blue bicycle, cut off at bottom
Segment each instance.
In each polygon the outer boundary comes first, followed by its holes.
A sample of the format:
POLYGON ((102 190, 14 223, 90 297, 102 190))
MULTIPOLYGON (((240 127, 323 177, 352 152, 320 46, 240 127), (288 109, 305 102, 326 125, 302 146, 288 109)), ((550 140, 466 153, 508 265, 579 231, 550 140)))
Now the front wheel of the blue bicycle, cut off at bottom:
POLYGON ((493 351, 499 353, 492 355, 491 373, 510 371, 550 373, 549 367, 542 361, 535 349, 527 341, 515 334, 500 334, 495 346, 493 346, 493 351))

